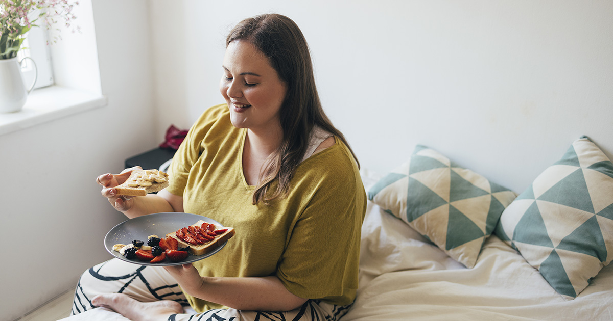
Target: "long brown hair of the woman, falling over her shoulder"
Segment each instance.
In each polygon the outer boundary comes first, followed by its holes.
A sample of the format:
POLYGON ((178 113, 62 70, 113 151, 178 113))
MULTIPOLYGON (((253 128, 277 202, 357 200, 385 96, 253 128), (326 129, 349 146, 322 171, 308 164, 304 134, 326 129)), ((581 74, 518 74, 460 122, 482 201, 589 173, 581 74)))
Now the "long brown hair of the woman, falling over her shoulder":
MULTIPOLYGON (((267 158, 253 193, 253 204, 260 201, 268 204, 289 192, 289 183, 307 150, 314 125, 329 131, 346 146, 349 144, 321 107, 307 40, 294 21, 275 13, 247 18, 230 31, 226 46, 235 40, 246 40, 256 46, 287 86, 280 110, 283 141, 267 158), (276 188, 272 190, 275 182, 276 188)), ((351 147, 349 150, 359 166, 351 147)))

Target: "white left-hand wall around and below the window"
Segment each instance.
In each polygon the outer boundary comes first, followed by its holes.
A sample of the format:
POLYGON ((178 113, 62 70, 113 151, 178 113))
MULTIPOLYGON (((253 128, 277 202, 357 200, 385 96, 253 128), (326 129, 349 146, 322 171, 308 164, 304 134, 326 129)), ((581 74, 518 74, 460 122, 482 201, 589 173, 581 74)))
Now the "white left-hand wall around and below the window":
MULTIPOLYGON (((93 15, 109 104, 0 136, 0 320, 74 288, 86 268, 110 258, 104 235, 125 217, 101 197, 96 176, 163 140, 150 125, 147 2, 94 0, 93 15)), ((78 37, 64 35, 89 41, 78 37)))

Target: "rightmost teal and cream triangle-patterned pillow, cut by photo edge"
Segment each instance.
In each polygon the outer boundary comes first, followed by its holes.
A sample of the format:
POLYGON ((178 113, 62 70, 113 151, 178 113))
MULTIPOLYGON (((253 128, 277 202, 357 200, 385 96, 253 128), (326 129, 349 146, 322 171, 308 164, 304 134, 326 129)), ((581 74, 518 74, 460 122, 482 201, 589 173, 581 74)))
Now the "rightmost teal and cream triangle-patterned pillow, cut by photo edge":
POLYGON ((613 163, 586 136, 504 210, 495 234, 566 300, 613 259, 613 163))

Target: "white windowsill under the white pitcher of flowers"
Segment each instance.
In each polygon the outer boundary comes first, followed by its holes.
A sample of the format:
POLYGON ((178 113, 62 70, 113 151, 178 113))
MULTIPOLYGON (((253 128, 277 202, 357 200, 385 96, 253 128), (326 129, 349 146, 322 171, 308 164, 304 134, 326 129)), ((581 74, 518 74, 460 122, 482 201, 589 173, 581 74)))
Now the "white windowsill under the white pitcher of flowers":
POLYGON ((0 135, 106 106, 107 97, 82 90, 50 86, 32 90, 21 111, 0 113, 0 135))

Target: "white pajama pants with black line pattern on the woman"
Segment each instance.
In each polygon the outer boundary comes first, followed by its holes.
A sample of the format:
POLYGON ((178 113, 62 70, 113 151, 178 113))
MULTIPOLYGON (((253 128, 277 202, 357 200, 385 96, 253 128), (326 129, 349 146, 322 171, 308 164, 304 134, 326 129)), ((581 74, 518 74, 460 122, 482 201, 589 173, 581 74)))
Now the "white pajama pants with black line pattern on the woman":
MULTIPOLYGON (((184 306, 185 313, 174 314, 169 321, 239 321, 239 320, 300 320, 335 321, 346 314, 350 306, 335 306, 318 300, 308 300, 300 308, 287 312, 239 311, 214 309, 196 313, 188 304, 177 282, 162 267, 140 266, 111 259, 85 271, 79 279, 72 304, 72 317, 64 320, 107 320, 95 315, 104 308, 96 308, 91 299, 101 293, 124 293, 142 302, 173 300, 184 306), (86 317, 87 315, 87 317, 86 317)), ((104 309, 105 315, 115 314, 104 309)), ((112 320, 128 320, 113 315, 112 320)))

